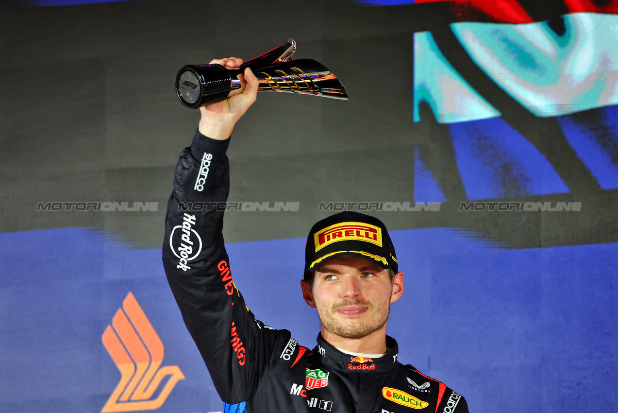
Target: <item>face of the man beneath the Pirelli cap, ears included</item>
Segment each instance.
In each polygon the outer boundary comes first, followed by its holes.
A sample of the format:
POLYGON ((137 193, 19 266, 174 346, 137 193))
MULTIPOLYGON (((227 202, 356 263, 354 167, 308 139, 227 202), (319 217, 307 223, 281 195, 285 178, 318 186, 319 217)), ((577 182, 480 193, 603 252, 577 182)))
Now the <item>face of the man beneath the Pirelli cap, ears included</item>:
POLYGON ((391 303, 404 290, 403 273, 393 281, 389 270, 355 255, 340 255, 318 266, 313 287, 301 281, 307 304, 318 309, 323 329, 358 339, 386 328, 391 303))

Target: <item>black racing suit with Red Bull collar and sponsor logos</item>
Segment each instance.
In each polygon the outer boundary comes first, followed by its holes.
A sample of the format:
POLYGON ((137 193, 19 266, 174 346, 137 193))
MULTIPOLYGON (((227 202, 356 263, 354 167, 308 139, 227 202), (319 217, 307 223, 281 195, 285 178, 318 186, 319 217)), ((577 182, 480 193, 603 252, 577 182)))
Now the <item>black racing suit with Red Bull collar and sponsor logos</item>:
POLYGON ((224 247, 229 140, 199 132, 180 154, 169 199, 163 263, 169 285, 221 399, 249 413, 468 412, 465 399, 389 351, 364 359, 318 335, 313 351, 258 321, 232 282, 224 247))

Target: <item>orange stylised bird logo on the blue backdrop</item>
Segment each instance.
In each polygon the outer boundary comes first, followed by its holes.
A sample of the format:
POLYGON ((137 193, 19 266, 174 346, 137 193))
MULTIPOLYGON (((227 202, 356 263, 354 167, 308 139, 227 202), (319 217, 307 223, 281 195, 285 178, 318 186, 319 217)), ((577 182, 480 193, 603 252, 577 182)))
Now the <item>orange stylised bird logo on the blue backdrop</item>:
POLYGON ((158 409, 185 378, 176 365, 159 368, 163 343, 130 292, 103 333, 103 344, 122 376, 102 413, 158 409), (151 399, 167 376, 159 396, 151 399))

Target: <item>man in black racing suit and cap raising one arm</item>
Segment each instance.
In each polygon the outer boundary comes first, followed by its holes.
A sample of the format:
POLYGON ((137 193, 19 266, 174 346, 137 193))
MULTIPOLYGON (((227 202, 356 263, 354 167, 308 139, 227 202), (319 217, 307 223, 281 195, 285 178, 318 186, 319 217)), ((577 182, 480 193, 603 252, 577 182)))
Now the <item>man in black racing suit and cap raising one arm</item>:
MULTIPOLYGON (((231 57, 211 64, 241 62, 231 57)), ((172 292, 222 400, 246 402, 250 413, 467 412, 462 396, 397 362, 386 320, 403 293, 404 275, 376 218, 340 213, 310 231, 301 286, 320 316, 313 351, 289 331, 256 320, 245 306, 224 247, 224 208, 216 207, 229 192, 228 138, 258 88, 250 70, 239 78, 236 95, 200 108, 198 132, 177 164, 163 247, 172 292)))

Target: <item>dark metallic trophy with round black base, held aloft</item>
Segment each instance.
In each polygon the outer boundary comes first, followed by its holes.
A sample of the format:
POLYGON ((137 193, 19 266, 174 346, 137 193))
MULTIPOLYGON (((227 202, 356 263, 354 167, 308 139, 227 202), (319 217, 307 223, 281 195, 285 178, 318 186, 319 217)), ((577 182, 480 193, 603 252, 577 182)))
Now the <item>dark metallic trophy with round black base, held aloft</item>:
POLYGON ((296 42, 243 62, 239 69, 220 64, 187 65, 176 75, 176 94, 188 108, 226 100, 230 92, 240 89, 237 75, 249 67, 260 80, 258 91, 304 93, 324 98, 347 100, 347 92, 339 79, 323 64, 312 59, 293 60, 296 42))

